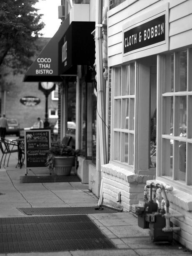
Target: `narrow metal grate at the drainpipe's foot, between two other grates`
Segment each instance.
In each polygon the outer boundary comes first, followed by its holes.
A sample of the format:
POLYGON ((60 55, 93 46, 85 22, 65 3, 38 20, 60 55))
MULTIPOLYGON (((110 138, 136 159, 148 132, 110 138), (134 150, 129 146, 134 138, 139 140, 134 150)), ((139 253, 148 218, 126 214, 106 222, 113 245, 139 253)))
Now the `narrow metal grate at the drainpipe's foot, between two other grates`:
POLYGON ((67 215, 67 214, 91 214, 91 213, 116 213, 118 210, 101 207, 96 210, 93 206, 86 207, 51 207, 51 208, 17 208, 27 215, 67 215))

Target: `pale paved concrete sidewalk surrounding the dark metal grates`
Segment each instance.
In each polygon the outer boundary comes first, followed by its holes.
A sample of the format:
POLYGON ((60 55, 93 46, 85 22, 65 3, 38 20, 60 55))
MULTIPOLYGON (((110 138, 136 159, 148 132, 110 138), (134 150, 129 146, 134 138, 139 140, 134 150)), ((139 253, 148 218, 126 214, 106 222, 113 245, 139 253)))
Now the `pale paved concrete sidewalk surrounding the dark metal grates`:
MULTIPOLYGON (((10 157, 9 167, 0 169, 0 218, 26 215, 17 208, 96 206, 98 198, 81 182, 20 183, 24 167, 15 168, 17 155, 10 157)), ((34 175, 34 171, 28 175, 34 175)), ((38 173, 39 174, 39 173, 38 173)), ((148 229, 139 228, 131 213, 88 214, 97 226, 116 245, 117 249, 78 250, 42 253, 20 253, 21 256, 178 256, 191 255, 183 246, 155 244, 150 241, 148 229)), ((1 242, 1 241, 0 241, 1 242)), ((15 256, 18 253, 0 254, 15 256)))

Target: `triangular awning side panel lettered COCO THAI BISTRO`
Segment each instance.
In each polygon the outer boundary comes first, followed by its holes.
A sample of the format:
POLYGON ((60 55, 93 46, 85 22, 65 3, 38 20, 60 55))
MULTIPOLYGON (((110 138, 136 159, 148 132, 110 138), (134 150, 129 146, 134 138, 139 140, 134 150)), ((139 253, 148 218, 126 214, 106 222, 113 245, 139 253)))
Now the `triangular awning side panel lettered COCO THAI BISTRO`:
POLYGON ((61 24, 53 38, 46 44, 28 71, 23 82, 58 82, 62 81, 59 73, 58 42, 69 27, 69 16, 61 24))

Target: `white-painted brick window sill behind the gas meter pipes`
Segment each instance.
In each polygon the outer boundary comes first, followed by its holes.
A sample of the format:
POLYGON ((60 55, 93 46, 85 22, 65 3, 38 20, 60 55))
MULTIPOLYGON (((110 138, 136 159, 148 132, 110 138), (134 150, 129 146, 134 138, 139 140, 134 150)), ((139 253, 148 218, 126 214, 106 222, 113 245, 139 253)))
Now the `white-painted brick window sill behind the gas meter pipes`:
POLYGON ((192 188, 184 188, 184 185, 179 184, 179 182, 173 182, 166 177, 156 177, 156 180, 147 180, 147 184, 154 182, 155 184, 160 183, 162 185, 171 185, 173 190, 167 193, 167 198, 170 203, 177 205, 178 207, 186 210, 192 211, 192 188))

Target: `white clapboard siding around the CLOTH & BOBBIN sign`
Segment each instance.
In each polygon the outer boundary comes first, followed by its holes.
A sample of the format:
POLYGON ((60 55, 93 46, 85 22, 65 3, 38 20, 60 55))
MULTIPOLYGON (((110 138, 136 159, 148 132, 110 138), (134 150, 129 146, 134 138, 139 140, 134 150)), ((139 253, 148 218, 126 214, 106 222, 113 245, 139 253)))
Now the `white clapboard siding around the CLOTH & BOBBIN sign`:
POLYGON ((122 63, 122 28, 130 19, 169 3, 169 50, 192 44, 192 0, 127 0, 108 12, 108 64, 122 63))

